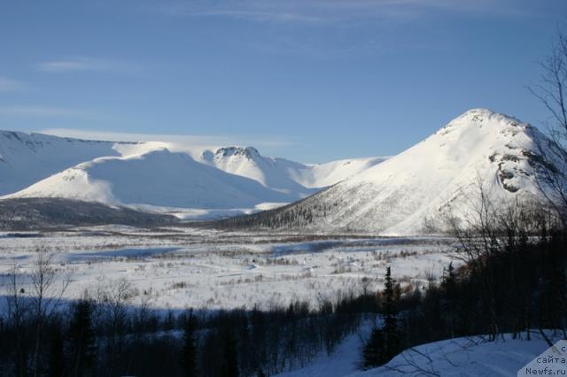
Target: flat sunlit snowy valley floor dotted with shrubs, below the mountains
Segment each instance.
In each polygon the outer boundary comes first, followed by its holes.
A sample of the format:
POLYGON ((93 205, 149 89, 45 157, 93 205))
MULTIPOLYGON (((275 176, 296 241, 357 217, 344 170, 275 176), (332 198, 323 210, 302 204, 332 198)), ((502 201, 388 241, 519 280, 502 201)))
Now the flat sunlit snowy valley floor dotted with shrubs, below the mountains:
MULTIPOLYGON (((454 256, 441 238, 343 238, 251 235, 191 228, 75 228, 66 232, 0 234, 0 277, 13 265, 30 273, 35 250, 53 253, 65 297, 94 293, 127 279, 133 305, 154 308, 268 308, 380 289, 386 265, 406 285, 437 279, 454 256)), ((0 295, 6 293, 5 284, 0 295)), ((27 289, 29 292, 30 289, 27 289)))

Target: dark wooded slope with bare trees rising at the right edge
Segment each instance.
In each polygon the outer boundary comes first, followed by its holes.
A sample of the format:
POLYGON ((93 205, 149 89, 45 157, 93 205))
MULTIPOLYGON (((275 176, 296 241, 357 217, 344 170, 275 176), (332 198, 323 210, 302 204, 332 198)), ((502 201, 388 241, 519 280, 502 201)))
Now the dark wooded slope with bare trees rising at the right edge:
POLYGON ((440 281, 403 289, 388 269, 379 294, 382 324, 363 356, 366 367, 383 365, 400 351, 454 337, 504 334, 530 340, 533 332, 551 346, 544 329, 567 340, 567 232, 541 206, 496 209, 487 196, 462 224, 453 221, 458 258, 440 281))

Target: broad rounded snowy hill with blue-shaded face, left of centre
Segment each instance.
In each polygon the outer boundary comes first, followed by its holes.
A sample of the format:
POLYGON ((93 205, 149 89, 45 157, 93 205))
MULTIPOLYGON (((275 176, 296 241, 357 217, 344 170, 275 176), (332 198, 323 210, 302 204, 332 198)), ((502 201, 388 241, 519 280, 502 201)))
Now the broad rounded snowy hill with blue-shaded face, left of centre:
POLYGON ((184 153, 151 150, 127 157, 96 158, 10 197, 66 197, 106 204, 181 208, 246 208, 291 202, 294 196, 259 182, 200 164, 184 153))

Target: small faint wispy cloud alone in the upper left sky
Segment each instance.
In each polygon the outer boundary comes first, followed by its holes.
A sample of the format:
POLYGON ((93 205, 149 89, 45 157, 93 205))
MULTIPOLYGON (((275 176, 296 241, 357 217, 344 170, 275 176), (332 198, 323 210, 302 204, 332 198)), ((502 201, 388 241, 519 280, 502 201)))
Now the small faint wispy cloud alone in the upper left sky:
POLYGON ((44 72, 134 72, 142 69, 142 65, 121 60, 101 58, 63 58, 42 62, 35 67, 44 72))

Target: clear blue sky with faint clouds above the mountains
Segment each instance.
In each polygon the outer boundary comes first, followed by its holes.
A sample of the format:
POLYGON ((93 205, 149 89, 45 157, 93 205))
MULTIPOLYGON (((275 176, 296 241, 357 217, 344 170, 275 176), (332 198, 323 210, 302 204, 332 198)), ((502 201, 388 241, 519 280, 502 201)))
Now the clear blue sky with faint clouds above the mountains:
POLYGON ((566 20, 564 0, 4 0, 0 128, 393 155, 474 107, 547 119, 526 86, 566 20))

